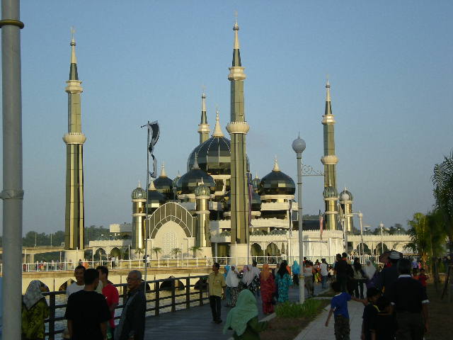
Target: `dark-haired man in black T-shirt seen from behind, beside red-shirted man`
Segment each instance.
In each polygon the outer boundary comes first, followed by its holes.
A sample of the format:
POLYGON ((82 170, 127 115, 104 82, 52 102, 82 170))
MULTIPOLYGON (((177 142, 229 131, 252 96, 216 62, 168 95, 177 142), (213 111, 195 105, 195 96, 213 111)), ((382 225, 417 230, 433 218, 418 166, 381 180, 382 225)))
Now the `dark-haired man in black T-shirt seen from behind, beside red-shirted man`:
POLYGON ((69 296, 64 318, 68 320, 72 340, 107 339, 107 321, 110 319, 105 297, 96 293, 99 273, 87 269, 84 273, 85 288, 69 296))

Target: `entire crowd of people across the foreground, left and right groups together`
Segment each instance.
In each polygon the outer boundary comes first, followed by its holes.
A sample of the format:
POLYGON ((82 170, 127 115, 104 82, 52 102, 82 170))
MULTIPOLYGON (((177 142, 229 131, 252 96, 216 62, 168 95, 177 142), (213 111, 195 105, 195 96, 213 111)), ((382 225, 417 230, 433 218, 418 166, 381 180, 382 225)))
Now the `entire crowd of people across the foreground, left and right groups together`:
MULTIPOLYGON (((335 292, 331 300, 326 326, 333 315, 337 340, 350 339, 348 301, 356 300, 365 306, 361 339, 422 340, 428 331, 428 276, 418 261, 403 259, 401 253, 391 251, 382 270, 376 263, 348 259, 337 254, 335 263, 326 259, 314 263, 304 258, 289 266, 286 260, 270 268, 265 263, 261 270, 256 261, 251 265, 224 266, 220 273, 219 263, 214 263, 207 278, 212 322, 221 324, 222 300, 231 307, 224 323, 224 332, 234 331, 234 339, 260 339, 259 332, 267 322, 258 321, 257 298, 262 302, 263 314, 272 314, 275 305, 289 300, 289 287, 299 285, 299 274, 304 273, 304 285, 309 297, 315 296, 314 285, 335 292), (366 297, 365 297, 366 295, 366 297)), ((67 286, 67 309, 64 318, 67 328, 64 339, 144 339, 146 297, 142 273, 130 271, 127 276, 127 298, 122 307, 120 322, 115 325, 115 308, 119 304, 117 288, 108 280, 108 268, 86 268, 83 264, 74 270, 74 283, 67 286)), ((23 339, 44 339, 44 321, 49 307, 38 280, 28 286, 23 295, 23 339)))

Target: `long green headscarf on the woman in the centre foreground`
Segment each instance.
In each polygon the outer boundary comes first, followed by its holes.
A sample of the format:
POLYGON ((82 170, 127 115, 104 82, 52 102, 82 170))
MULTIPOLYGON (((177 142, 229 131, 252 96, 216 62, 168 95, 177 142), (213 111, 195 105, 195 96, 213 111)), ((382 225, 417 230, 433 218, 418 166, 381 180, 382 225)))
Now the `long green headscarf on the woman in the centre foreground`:
POLYGON ((256 298, 250 290, 244 289, 239 293, 236 307, 230 310, 226 316, 224 334, 231 328, 238 336, 241 336, 246 331, 247 322, 253 317, 258 317, 256 298))

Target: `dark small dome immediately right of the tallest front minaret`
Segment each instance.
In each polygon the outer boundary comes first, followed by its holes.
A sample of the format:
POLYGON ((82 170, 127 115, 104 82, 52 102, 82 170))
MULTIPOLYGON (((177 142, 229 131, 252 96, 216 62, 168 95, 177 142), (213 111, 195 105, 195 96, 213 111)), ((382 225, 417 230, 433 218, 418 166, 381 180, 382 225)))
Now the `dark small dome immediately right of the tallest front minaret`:
POLYGON ((275 159, 274 169, 261 179, 258 193, 263 195, 294 195, 296 185, 291 177, 280 171, 275 159))

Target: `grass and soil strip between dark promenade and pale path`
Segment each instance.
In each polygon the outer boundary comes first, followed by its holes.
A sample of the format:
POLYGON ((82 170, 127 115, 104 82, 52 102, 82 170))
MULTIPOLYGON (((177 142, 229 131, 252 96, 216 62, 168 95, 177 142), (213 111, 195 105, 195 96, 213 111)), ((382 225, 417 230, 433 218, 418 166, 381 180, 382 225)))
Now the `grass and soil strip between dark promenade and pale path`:
POLYGON ((268 329, 260 333, 260 339, 293 340, 330 303, 330 300, 309 299, 304 305, 294 302, 277 305, 277 316, 270 320, 268 329))

